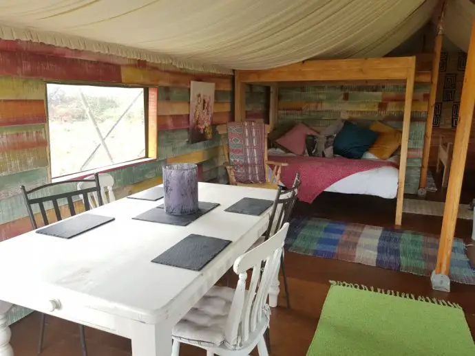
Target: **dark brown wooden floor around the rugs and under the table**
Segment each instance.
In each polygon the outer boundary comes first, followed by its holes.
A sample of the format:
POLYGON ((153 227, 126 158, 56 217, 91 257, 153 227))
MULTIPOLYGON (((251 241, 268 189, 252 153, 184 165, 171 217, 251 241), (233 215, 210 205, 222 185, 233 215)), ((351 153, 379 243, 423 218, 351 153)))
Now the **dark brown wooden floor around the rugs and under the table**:
MULTIPOLYGON (((437 179, 436 177, 436 181, 437 179)), ((468 186, 464 183, 462 200, 465 203, 475 197, 475 194, 472 195, 475 193, 475 186, 470 187, 471 183, 472 180, 468 186)), ((430 199, 436 200, 442 199, 444 193, 439 191, 432 195, 430 199)), ((297 204, 295 214, 391 227, 394 223, 394 208, 395 201, 386 199, 324 193, 311 205, 297 204)), ((403 228, 408 230, 439 234, 441 222, 440 216, 403 214, 403 228)), ((469 242, 471 234, 472 221, 459 220, 456 236, 469 242)), ((475 261, 475 247, 469 247, 468 254, 475 261)), ((292 252, 286 252, 285 258, 292 305, 291 310, 284 307, 285 296, 284 291, 281 291, 279 307, 273 309, 271 315, 271 355, 306 355, 330 287, 329 280, 359 283, 457 302, 463 307, 472 336, 475 337, 475 286, 452 283, 451 293, 443 293, 433 291, 430 278, 425 276, 292 252)), ((38 333, 39 315, 37 313, 12 325, 12 346, 15 355, 36 355, 38 333)), ((120 356, 131 353, 130 341, 123 337, 89 328, 86 329, 86 337, 89 356, 120 356)), ((48 317, 45 329, 45 349, 42 355, 80 356, 81 346, 76 324, 48 317)), ((180 355, 204 356, 205 353, 198 348, 184 346, 180 355)), ((252 355, 257 355, 257 353, 253 351, 252 355)))

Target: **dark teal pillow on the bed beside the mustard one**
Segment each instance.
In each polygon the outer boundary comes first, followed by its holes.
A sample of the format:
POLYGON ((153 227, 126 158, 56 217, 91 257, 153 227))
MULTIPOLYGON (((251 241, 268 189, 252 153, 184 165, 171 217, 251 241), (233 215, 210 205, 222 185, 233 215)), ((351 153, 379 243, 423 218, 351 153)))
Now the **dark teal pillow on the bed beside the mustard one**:
POLYGON ((378 133, 346 121, 333 142, 333 153, 359 159, 378 138, 378 133))

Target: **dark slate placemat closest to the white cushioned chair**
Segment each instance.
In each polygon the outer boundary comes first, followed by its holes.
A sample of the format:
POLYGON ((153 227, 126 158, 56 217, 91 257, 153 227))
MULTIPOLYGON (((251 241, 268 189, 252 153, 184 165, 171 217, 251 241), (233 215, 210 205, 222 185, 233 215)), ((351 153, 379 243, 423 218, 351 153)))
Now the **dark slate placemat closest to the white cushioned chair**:
POLYGON ((151 262, 200 271, 230 243, 222 238, 191 234, 151 262))

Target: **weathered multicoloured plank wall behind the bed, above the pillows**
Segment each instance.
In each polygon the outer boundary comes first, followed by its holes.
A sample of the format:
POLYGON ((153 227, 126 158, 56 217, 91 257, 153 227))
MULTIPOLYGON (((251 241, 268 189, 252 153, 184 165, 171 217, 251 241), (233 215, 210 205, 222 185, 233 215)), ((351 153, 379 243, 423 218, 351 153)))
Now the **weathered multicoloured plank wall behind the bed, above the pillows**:
MULTIPOLYGON (((405 192, 419 185, 430 85, 416 83, 412 102, 405 192)), ((370 124, 381 120, 402 128, 405 85, 310 85, 280 87, 277 125, 304 122, 323 128, 338 119, 370 124)))

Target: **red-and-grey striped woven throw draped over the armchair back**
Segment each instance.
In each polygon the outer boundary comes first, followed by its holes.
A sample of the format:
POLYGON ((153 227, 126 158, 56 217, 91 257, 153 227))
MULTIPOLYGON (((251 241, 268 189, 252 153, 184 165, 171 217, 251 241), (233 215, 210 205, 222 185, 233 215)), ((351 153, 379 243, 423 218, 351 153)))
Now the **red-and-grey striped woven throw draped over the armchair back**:
POLYGON ((229 122, 229 163, 234 177, 240 183, 265 183, 264 122, 229 122))

